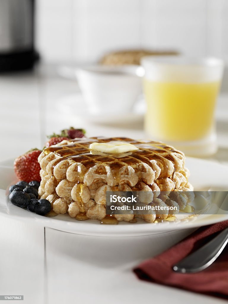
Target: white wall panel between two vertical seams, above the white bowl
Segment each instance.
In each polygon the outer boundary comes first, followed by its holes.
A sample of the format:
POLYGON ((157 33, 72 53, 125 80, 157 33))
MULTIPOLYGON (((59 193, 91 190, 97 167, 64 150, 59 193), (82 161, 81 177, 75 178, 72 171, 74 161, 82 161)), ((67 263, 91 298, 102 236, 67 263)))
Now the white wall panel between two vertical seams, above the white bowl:
POLYGON ((97 60, 107 50, 139 47, 140 0, 77 1, 74 60, 97 60))

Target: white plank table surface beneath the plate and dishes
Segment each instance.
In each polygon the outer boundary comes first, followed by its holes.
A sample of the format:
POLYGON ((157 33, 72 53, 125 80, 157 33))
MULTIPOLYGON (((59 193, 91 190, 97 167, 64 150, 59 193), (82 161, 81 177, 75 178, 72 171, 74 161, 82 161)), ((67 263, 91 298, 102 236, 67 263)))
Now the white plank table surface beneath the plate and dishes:
MULTIPOLYGON (((42 148, 47 134, 71 125, 86 129, 88 136, 145 136, 142 123, 133 124, 131 128, 120 124, 102 126, 80 115, 74 117, 66 112, 63 115, 60 103, 75 94, 80 95, 76 81, 59 77, 53 67, 1 75, 0 161, 13 159, 32 147, 42 148)), ((227 99, 224 93, 219 97, 216 114, 219 150, 210 159, 228 165, 227 99)), ((78 111, 83 111, 84 106, 82 102, 78 111)), ((132 268, 142 259, 109 264, 105 257, 102 260, 101 254, 99 260, 93 256, 93 247, 87 248, 88 243, 93 244, 94 237, 44 229, 2 216, 0 228, 0 294, 24 295, 25 303, 223 302, 138 281, 132 268), (84 248, 85 254, 79 248, 84 248)), ((162 237, 168 248, 184 234, 162 237)), ((113 245, 109 242, 110 246, 113 245)), ((153 254, 155 252, 151 252, 151 256, 153 254)))

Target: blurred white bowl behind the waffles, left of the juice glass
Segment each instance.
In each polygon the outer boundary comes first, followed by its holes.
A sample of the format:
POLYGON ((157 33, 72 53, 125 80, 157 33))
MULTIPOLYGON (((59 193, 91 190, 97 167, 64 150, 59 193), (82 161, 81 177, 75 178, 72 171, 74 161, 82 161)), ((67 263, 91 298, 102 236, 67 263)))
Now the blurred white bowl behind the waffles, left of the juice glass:
POLYGON ((142 91, 143 69, 138 65, 94 65, 78 68, 76 75, 93 114, 129 112, 142 91))

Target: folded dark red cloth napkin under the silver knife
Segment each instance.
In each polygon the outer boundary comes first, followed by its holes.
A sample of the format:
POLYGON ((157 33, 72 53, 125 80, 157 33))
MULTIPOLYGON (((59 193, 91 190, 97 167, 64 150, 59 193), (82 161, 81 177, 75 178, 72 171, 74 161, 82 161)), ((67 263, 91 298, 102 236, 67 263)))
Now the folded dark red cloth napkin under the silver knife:
POLYGON ((201 227, 179 244, 138 265, 134 272, 141 280, 228 299, 228 246, 203 271, 181 274, 172 270, 174 264, 206 244, 226 227, 228 220, 201 227))

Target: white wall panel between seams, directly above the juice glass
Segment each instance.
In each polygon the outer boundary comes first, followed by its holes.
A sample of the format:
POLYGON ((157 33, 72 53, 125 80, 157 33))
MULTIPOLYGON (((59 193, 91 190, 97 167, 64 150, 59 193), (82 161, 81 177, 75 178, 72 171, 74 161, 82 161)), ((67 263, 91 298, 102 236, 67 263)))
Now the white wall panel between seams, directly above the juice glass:
POLYGON ((152 46, 191 55, 205 53, 206 0, 157 0, 154 9, 152 46))

